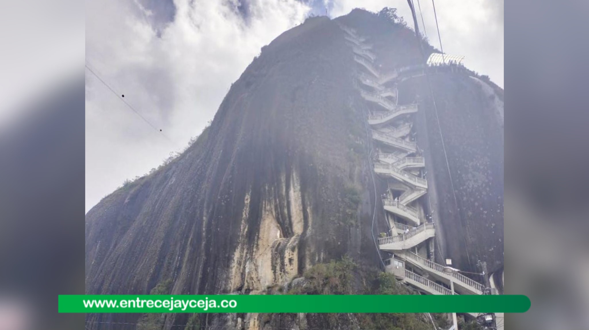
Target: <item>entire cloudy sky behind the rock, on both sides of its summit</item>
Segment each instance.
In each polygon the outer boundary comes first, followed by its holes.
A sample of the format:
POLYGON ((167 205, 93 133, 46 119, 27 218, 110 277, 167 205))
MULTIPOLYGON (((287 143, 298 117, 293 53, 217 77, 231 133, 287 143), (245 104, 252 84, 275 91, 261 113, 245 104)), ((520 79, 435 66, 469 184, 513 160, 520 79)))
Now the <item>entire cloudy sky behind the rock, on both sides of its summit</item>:
MULTIPOLYGON (((439 48, 432 3, 419 5, 439 48)), ((412 21, 405 0, 87 0, 86 65, 141 117, 86 70, 86 210, 186 147, 262 46, 309 15, 356 6, 412 21)), ((444 0, 436 11, 444 51, 503 86, 503 0, 444 0)))

